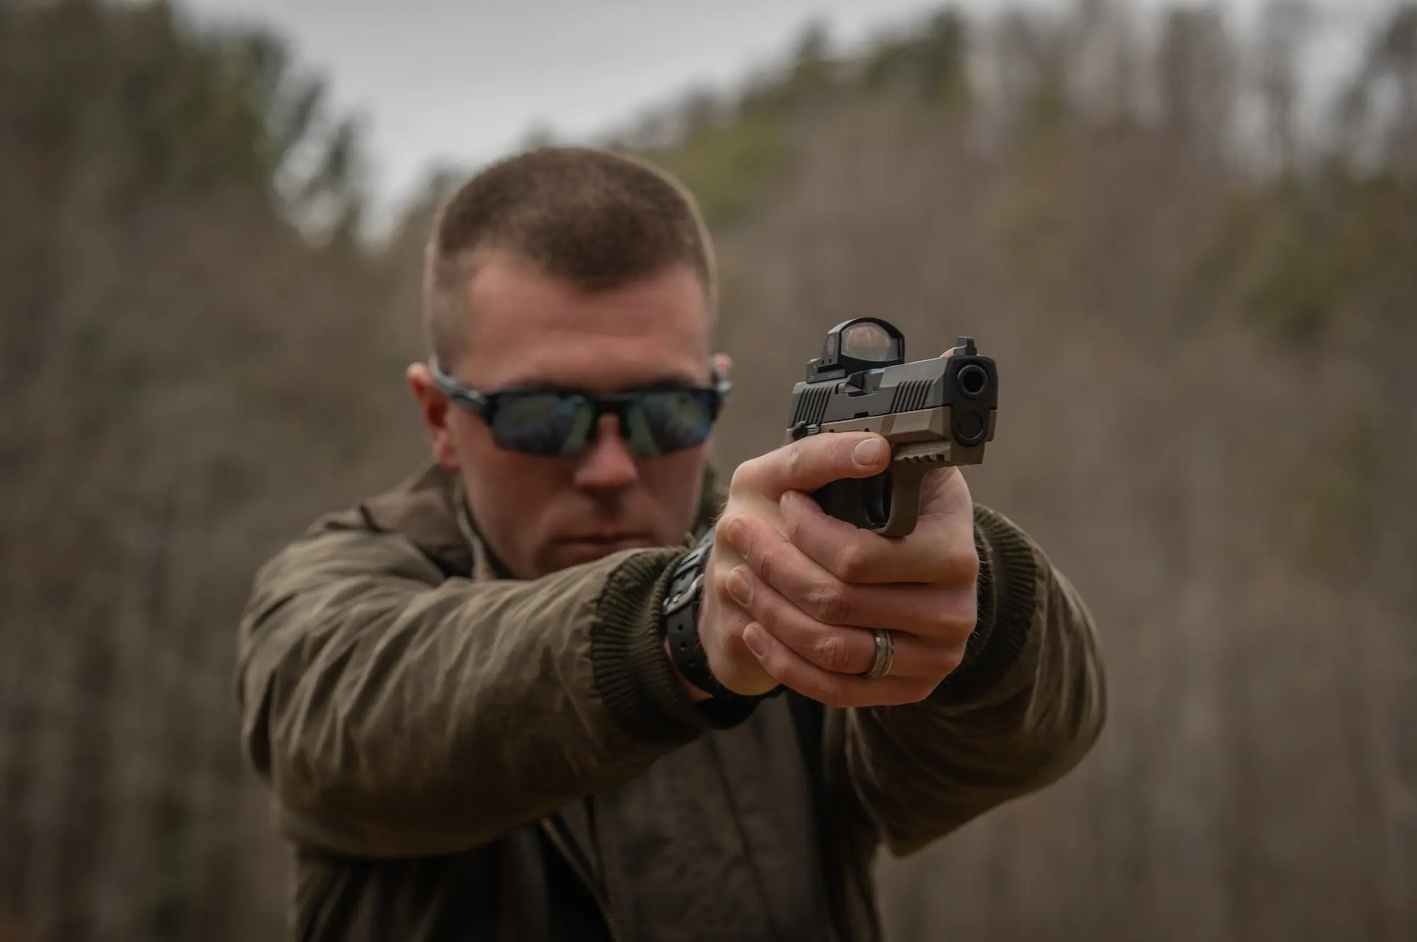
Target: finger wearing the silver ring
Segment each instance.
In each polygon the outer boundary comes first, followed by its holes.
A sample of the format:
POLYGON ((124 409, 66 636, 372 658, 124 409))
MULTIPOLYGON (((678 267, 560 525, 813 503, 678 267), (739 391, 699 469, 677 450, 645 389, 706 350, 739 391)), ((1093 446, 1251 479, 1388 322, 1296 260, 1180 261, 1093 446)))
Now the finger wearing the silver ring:
MULTIPOLYGON (((862 628, 823 625, 782 598, 772 586, 738 567, 726 579, 728 595, 752 622, 806 662, 839 674, 864 674, 876 663, 876 635, 862 628)), ((927 642, 908 632, 893 632, 891 677, 939 680, 964 660, 968 636, 927 642)))

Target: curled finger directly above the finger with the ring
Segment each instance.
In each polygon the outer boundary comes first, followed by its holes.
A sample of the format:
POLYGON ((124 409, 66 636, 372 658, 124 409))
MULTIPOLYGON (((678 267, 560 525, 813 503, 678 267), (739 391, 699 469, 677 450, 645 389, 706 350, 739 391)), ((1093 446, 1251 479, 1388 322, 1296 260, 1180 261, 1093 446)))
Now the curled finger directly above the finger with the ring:
POLYGON ((757 517, 740 517, 723 535, 762 582, 823 625, 891 628, 944 640, 973 630, 978 598, 972 581, 852 585, 809 560, 757 517))

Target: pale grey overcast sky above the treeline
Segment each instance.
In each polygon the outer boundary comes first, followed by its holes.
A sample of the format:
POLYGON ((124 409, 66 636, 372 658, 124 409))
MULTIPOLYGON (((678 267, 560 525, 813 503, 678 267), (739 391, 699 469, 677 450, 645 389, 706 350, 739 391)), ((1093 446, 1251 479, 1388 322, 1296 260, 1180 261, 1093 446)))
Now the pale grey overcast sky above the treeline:
MULTIPOLYGON (((1318 6, 1355 10, 1376 1, 1319 0, 1318 6)), ((1260 3, 1221 6, 1244 16, 1260 3)), ((584 139, 690 86, 731 86, 781 57, 812 20, 825 21, 839 45, 854 45, 881 30, 918 23, 942 4, 186 0, 183 6, 201 21, 259 23, 283 34, 298 59, 330 81, 339 109, 363 118, 373 184, 387 205, 407 195, 432 163, 483 163, 516 147, 533 127, 584 139)))

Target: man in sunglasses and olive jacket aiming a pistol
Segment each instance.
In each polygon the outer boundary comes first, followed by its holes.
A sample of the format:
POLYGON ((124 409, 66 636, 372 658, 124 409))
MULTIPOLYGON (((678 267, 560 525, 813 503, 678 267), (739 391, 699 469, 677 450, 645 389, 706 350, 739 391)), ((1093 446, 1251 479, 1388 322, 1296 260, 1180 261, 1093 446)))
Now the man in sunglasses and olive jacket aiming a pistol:
POLYGON ((876 939, 880 844, 1095 739, 1081 601, 956 470, 901 540, 805 497, 883 470, 874 435, 717 493, 714 293, 639 161, 537 150, 446 204, 408 371, 434 466, 266 564, 241 626, 295 938, 876 939))

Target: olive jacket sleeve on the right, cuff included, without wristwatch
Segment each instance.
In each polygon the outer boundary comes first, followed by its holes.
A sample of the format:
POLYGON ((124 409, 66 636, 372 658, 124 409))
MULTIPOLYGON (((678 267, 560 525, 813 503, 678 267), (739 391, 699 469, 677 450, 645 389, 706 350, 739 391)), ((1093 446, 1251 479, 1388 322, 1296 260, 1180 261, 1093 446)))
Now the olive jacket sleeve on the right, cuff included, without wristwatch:
POLYGON ((1102 666, 1077 591, 1002 514, 975 509, 975 543, 979 625, 964 663, 922 703, 828 717, 839 820, 896 854, 1056 782, 1102 728, 1102 666))

